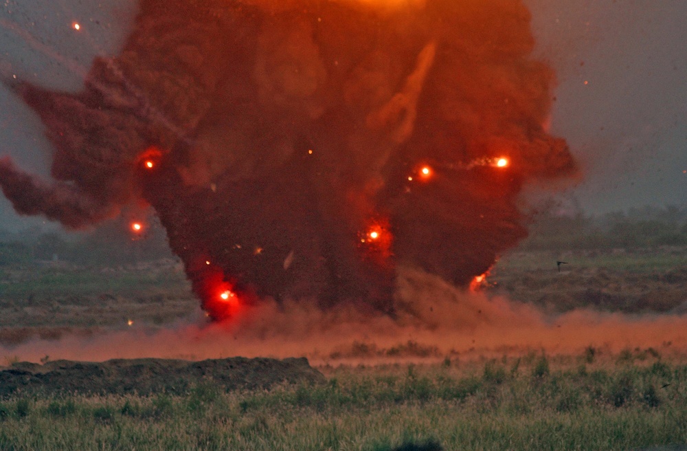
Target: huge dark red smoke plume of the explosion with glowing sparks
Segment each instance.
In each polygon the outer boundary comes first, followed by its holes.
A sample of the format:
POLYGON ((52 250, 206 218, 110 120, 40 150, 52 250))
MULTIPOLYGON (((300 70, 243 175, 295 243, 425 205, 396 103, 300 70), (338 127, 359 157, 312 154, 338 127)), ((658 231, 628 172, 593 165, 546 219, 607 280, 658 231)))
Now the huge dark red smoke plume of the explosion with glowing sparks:
POLYGON ((523 185, 576 171, 543 126, 554 74, 521 0, 395 3, 142 0, 79 93, 12 85, 56 182, 3 159, 3 192, 71 228, 149 203, 216 319, 391 313, 398 265, 466 285, 526 235, 523 185))

